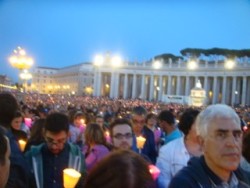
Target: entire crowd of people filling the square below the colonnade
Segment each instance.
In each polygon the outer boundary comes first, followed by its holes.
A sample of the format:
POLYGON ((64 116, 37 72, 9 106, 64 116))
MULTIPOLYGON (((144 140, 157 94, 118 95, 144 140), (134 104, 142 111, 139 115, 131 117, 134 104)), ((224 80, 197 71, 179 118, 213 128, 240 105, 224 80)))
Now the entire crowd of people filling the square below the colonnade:
POLYGON ((225 104, 2 92, 0 188, 62 188, 68 168, 77 188, 250 187, 249 122, 225 104))

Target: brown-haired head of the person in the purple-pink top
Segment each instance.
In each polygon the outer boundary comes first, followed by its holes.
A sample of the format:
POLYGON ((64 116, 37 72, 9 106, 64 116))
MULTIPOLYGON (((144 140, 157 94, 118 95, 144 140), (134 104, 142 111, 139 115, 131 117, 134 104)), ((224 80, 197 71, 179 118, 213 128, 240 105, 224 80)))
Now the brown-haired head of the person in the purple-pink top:
POLYGON ((97 123, 87 125, 85 132, 85 142, 87 145, 106 144, 106 138, 103 129, 97 123))

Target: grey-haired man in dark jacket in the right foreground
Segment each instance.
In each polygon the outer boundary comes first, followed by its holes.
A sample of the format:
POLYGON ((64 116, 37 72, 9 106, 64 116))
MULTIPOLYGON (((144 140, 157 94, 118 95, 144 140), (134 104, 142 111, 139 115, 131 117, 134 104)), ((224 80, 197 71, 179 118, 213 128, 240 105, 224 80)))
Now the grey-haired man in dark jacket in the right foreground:
POLYGON ((203 155, 191 158, 173 177, 169 188, 249 187, 238 168, 242 131, 236 112, 224 104, 210 105, 197 116, 195 124, 203 155))

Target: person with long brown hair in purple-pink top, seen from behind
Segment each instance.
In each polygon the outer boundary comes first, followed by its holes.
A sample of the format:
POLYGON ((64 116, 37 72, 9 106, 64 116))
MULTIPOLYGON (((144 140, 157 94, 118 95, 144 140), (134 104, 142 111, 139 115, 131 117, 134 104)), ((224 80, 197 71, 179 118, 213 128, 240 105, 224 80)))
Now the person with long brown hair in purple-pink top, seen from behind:
POLYGON ((109 154, 104 132, 100 125, 92 123, 85 130, 85 162, 87 171, 93 168, 103 157, 109 154))

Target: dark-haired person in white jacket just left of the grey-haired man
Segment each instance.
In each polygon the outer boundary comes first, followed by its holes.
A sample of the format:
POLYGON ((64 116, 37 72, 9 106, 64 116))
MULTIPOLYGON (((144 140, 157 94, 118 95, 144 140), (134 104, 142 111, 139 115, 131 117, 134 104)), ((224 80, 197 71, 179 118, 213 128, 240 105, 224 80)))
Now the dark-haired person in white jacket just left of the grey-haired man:
POLYGON ((159 188, 168 187, 171 178, 184 166, 193 156, 202 154, 198 141, 195 119, 199 114, 198 110, 187 109, 180 117, 179 129, 184 137, 175 139, 160 148, 156 166, 161 173, 158 178, 159 188))

